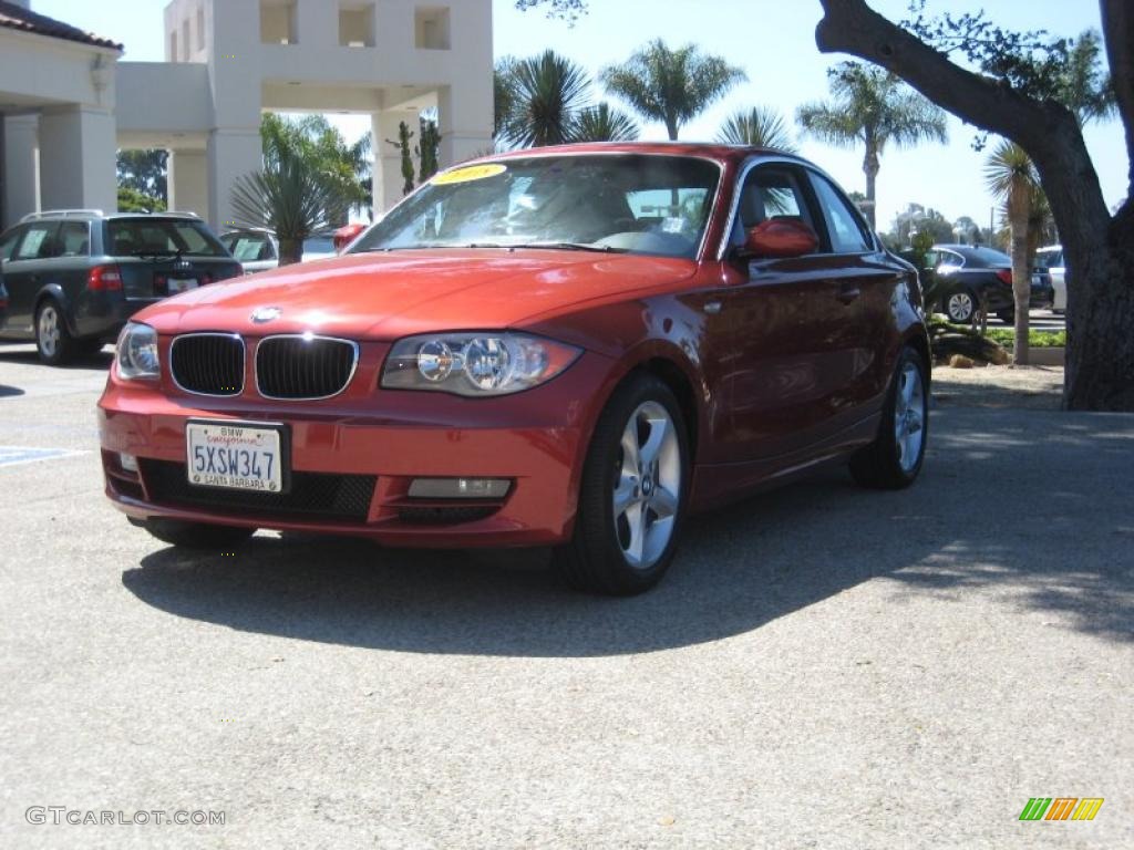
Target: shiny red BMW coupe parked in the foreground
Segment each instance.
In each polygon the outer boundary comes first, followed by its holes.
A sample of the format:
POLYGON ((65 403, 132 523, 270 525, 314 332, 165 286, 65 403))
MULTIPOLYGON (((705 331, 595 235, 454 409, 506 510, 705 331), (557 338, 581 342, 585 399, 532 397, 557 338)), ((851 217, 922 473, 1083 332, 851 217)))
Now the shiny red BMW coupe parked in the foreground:
POLYGON ((170 298, 118 341, 107 495, 178 546, 256 528, 550 545, 653 586, 689 513, 925 452, 917 277, 813 164, 710 145, 442 172, 331 260, 170 298))

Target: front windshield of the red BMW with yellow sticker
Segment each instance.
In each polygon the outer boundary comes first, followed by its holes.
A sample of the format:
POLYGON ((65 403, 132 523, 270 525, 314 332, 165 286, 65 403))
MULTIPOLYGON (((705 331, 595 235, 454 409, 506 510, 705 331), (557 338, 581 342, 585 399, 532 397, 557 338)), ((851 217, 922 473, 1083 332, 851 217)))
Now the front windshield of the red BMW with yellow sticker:
POLYGON ((350 253, 555 247, 696 256, 720 169, 689 156, 509 159, 435 177, 350 253))

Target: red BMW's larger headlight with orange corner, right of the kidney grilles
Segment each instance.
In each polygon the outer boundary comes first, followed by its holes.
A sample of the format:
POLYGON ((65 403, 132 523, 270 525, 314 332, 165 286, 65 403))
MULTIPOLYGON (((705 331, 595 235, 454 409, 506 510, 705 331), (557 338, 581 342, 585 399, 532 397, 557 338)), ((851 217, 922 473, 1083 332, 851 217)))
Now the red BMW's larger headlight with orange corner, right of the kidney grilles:
POLYGON ((382 369, 388 390, 506 396, 550 381, 579 349, 524 333, 438 333, 393 345, 382 369))

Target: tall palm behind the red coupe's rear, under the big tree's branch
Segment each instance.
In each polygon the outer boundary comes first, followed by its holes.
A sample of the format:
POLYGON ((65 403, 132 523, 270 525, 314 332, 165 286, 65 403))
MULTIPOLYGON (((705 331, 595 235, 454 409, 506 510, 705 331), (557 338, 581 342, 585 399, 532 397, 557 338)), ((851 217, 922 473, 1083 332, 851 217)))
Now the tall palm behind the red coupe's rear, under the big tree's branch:
POLYGON ((875 223, 875 182, 881 155, 892 142, 899 147, 946 142, 945 111, 889 71, 858 62, 840 62, 828 73, 832 99, 799 107, 799 125, 816 138, 839 147, 864 145, 866 218, 875 223))

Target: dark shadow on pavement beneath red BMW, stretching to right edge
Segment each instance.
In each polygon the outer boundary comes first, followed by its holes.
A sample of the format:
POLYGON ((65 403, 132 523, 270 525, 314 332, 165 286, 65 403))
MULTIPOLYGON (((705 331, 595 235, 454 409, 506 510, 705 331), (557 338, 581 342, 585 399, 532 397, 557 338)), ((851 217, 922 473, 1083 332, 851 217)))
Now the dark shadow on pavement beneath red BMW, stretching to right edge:
MULTIPOLYGON (((665 581, 628 600, 561 587, 547 553, 384 550, 257 536, 232 555, 163 549, 139 600, 234 629, 423 653, 595 656, 760 628, 871 579, 888 598, 991 589, 1067 628, 1134 639, 1134 418, 953 410, 900 493, 828 470, 697 518, 665 581), (1014 498, 1006 498, 1008 494, 1014 498), (1015 498, 1018 496, 1018 498, 1015 498)), ((885 614, 880 614, 885 615, 885 614)))

